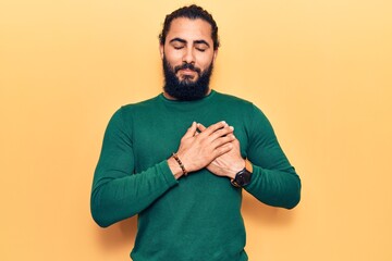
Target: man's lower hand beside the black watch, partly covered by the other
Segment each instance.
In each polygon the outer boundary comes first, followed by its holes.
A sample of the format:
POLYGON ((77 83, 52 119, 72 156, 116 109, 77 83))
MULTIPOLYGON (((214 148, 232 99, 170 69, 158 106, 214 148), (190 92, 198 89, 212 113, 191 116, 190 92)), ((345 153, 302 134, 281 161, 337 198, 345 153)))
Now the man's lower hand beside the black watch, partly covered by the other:
MULTIPOLYGON (((198 129, 204 133, 207 128, 201 124, 197 124, 198 129)), ((245 160, 241 157, 240 141, 235 138, 234 134, 229 134, 232 137, 232 148, 217 157, 210 164, 207 165, 207 170, 218 176, 228 176, 234 178, 235 174, 245 167, 245 160)))

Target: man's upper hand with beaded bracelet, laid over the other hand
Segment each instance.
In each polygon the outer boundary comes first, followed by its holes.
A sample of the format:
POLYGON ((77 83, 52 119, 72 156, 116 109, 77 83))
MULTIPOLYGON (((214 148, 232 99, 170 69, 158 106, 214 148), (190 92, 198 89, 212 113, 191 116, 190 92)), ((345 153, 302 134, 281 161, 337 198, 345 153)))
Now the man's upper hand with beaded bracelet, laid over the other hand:
MULTIPOLYGON (((200 124, 201 125, 201 124, 200 124)), ((225 122, 212 124, 204 128, 203 133, 197 132, 197 124, 194 122, 181 138, 177 157, 187 172, 198 171, 206 167, 216 158, 230 151, 233 147, 231 141, 235 138, 233 128, 225 122)), ((201 125, 203 126, 203 125, 201 125)), ((173 159, 169 159, 169 167, 177 178, 179 167, 173 159)))

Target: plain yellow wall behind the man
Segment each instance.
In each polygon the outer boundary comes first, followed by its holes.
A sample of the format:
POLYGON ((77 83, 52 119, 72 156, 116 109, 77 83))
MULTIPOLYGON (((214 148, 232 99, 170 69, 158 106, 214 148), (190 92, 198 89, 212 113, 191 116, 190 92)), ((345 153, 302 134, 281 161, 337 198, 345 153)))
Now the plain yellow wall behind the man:
MULTIPOLYGON (((195 2, 212 87, 265 111, 303 181, 292 211, 245 197, 250 260, 392 260, 392 2, 195 2)), ((93 172, 111 114, 161 91, 157 37, 187 3, 0 2, 0 260, 128 260, 136 219, 93 222, 93 172)))

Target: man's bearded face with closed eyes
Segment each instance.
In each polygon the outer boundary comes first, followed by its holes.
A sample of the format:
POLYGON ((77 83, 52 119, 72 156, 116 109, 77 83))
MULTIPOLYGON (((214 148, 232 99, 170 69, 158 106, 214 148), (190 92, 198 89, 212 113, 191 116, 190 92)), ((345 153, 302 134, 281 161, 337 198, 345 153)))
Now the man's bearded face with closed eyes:
POLYGON ((208 22, 184 17, 173 20, 166 42, 160 46, 160 53, 163 59, 166 96, 193 100, 208 94, 212 64, 217 57, 208 22), (175 89, 181 97, 171 91, 175 89), (182 97, 184 91, 185 97, 182 97), (187 95, 189 91, 192 94, 187 95))

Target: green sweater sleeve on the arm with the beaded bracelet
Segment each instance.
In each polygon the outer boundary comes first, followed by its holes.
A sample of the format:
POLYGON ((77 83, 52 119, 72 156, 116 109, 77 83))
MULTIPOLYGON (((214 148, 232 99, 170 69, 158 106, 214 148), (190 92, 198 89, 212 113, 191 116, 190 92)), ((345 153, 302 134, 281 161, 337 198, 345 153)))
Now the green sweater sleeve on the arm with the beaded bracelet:
POLYGON ((108 124, 94 174, 90 210, 102 227, 139 213, 177 184, 167 160, 134 173, 132 133, 126 127, 120 109, 108 124))

